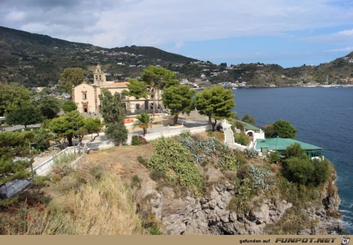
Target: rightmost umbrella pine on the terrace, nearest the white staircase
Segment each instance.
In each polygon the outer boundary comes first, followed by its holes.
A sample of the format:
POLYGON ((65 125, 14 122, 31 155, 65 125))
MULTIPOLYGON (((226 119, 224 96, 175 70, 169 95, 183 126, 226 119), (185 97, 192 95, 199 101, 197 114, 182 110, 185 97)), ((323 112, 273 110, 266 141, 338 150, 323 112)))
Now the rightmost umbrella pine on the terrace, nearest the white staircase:
POLYGON ((236 114, 231 111, 236 105, 234 96, 230 89, 223 86, 215 86, 198 92, 195 102, 199 113, 208 116, 209 123, 212 124, 212 131, 215 131, 217 119, 230 118, 236 114), (214 123, 211 118, 214 119, 214 123))

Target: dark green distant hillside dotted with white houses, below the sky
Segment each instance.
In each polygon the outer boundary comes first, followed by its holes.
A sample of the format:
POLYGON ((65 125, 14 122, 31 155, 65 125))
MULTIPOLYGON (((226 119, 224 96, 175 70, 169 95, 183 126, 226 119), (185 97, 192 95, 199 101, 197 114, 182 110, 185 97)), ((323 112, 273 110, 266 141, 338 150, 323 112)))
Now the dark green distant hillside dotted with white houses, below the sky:
POLYGON ((319 66, 282 68, 275 64, 215 65, 154 47, 125 46, 103 48, 69 42, 47 35, 0 27, 0 81, 17 82, 26 87, 53 85, 68 67, 81 67, 92 79, 91 70, 99 63, 108 80, 139 78, 149 65, 161 66, 178 78, 199 85, 220 82, 247 82, 257 86, 288 86, 310 82, 353 82, 353 52, 319 66), (352 81, 346 81, 352 78, 352 81))

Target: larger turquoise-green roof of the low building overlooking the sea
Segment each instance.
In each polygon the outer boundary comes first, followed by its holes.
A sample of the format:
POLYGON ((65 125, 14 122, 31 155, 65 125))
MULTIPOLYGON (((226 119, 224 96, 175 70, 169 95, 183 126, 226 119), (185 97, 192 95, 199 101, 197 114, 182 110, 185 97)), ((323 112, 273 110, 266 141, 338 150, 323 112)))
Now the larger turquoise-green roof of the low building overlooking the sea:
POLYGON ((301 147, 308 151, 308 150, 321 150, 321 147, 314 146, 308 143, 304 143, 298 140, 292 140, 292 139, 282 139, 279 137, 272 138, 272 139, 257 139, 256 140, 256 149, 261 150, 261 147, 268 147, 269 151, 283 151, 285 150, 289 145, 298 143, 301 145, 301 147))

